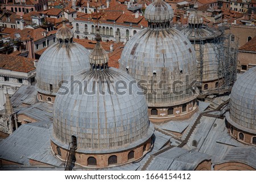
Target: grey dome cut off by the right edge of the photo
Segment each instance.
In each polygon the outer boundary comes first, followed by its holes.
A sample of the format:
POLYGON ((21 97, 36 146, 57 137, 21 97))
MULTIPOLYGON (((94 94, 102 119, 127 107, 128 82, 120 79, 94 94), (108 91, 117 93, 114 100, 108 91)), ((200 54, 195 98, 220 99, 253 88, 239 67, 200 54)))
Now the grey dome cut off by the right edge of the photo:
POLYGON ((230 94, 230 124, 256 132, 256 66, 243 73, 234 83, 230 94))

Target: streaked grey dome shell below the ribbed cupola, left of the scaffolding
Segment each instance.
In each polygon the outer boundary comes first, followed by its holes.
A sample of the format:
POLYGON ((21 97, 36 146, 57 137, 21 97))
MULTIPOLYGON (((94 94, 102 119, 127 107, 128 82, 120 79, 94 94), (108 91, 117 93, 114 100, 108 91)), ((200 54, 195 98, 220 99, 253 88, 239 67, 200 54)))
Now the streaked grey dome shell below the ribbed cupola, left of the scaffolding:
POLYGON ((195 99, 196 95, 189 91, 192 88, 185 85, 195 81, 196 67, 195 50, 187 37, 174 28, 145 28, 136 33, 127 42, 119 61, 119 69, 129 71, 137 81, 147 82, 149 107, 178 105, 195 99), (187 82, 186 75, 189 75, 187 82), (153 79, 166 83, 152 88, 153 79), (176 91, 183 91, 182 94, 175 94, 172 90, 175 80, 183 82, 176 84, 176 91))

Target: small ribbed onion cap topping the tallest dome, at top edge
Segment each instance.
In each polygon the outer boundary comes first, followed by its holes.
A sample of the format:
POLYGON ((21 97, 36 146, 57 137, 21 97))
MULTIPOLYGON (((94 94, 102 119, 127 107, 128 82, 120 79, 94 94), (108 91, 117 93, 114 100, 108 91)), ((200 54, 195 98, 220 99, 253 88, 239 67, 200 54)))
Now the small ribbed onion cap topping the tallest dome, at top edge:
POLYGON ((155 0, 147 6, 144 17, 151 23, 170 22, 174 18, 174 11, 163 0, 155 0))

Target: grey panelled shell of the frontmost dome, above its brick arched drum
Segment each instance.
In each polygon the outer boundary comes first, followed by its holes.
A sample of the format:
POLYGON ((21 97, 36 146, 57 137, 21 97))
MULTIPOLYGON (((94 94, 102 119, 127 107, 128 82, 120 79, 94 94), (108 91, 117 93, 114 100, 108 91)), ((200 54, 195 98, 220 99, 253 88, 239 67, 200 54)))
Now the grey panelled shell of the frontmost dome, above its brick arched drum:
POLYGON ((87 93, 82 89, 79 94, 79 84, 75 84, 74 94, 56 96, 53 142, 67 146, 75 135, 81 153, 112 153, 131 149, 151 137, 146 100, 138 94, 142 92, 138 87, 129 87, 133 78, 110 68, 80 71, 75 80, 88 81, 84 84, 87 93), (118 94, 116 83, 126 85, 122 91, 129 92, 118 94))

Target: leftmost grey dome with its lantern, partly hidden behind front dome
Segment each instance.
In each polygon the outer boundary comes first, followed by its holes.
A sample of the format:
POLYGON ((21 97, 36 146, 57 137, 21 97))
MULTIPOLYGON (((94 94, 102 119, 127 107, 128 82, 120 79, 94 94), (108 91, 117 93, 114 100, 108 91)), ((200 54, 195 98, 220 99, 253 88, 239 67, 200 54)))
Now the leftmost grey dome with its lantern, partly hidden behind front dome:
POLYGON ((89 51, 73 43, 73 32, 64 23, 56 37, 58 42, 44 51, 36 65, 36 89, 42 94, 56 95, 61 81, 90 67, 89 51))

